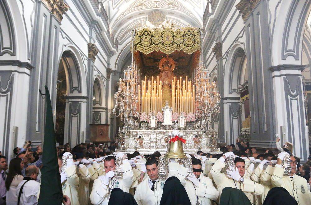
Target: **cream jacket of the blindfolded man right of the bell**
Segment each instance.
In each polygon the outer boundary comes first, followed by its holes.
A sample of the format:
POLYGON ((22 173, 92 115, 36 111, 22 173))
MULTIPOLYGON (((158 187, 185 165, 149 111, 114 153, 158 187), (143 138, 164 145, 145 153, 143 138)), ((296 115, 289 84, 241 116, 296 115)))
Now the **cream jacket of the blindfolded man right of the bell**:
POLYGON ((192 205, 196 205, 197 201, 200 205, 213 204, 211 200, 216 201, 219 192, 213 186, 212 180, 201 173, 199 177, 199 186, 195 186, 191 181, 183 179, 181 183, 185 187, 188 197, 192 205))

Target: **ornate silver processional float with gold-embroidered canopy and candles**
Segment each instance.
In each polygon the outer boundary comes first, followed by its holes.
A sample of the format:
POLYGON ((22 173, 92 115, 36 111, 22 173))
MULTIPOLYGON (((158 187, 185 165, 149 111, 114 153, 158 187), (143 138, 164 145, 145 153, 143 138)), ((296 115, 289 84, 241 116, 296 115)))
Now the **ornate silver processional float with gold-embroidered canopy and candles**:
POLYGON ((175 29, 168 23, 162 28, 133 29, 131 49, 132 63, 124 70, 114 94, 113 113, 124 124, 118 131, 117 151, 164 154, 179 133, 178 137, 185 139, 185 153, 220 153, 211 117, 220 112, 221 97, 202 62, 202 31, 175 29), (160 75, 141 77, 141 56, 159 53, 163 54, 156 62, 160 75), (174 75, 178 65, 169 55, 176 53, 192 55, 189 79, 188 75, 174 75))

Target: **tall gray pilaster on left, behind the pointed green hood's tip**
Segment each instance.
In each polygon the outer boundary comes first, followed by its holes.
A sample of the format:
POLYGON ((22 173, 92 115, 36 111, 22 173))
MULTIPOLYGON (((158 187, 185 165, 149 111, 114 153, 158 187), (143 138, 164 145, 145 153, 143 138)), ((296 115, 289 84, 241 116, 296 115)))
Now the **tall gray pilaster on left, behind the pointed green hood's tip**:
MULTIPOLYGON (((55 89, 56 81, 53 73, 58 70, 57 52, 60 22, 55 19, 49 9, 41 1, 36 1, 35 22, 32 34, 31 64, 35 67, 30 78, 29 110, 27 116, 26 139, 40 141, 44 136, 45 101, 38 89, 44 85, 55 89), (52 85, 52 86, 51 86, 52 85)), ((55 75, 54 75, 55 76, 55 75)), ((52 98, 55 92, 52 91, 52 98)), ((53 102, 53 100, 52 100, 53 102)))

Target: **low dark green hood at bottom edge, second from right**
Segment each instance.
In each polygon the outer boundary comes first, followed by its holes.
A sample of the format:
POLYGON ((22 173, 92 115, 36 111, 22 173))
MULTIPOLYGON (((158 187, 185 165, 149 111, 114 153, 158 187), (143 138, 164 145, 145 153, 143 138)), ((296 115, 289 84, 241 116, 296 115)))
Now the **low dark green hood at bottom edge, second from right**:
POLYGON ((240 189, 225 187, 220 195, 219 205, 251 205, 247 196, 240 189))

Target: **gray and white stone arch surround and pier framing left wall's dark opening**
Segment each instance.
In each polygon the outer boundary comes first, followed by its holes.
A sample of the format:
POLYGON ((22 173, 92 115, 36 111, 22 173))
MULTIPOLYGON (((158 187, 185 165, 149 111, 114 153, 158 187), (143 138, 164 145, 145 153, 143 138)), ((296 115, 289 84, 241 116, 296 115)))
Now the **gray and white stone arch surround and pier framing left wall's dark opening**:
POLYGON ((63 140, 73 147, 85 140, 86 104, 90 100, 86 95, 86 74, 81 56, 73 46, 64 49, 58 65, 58 71, 64 70, 67 82, 63 140))

